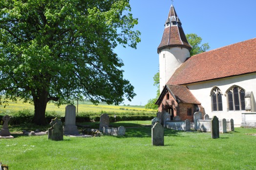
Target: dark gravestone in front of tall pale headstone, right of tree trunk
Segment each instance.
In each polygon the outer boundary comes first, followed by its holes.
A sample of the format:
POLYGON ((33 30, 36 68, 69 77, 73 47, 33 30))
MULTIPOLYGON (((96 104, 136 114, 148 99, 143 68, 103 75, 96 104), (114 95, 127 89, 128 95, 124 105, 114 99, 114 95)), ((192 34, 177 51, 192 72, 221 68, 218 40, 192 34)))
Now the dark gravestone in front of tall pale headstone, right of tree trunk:
POLYGON ((48 128, 48 139, 53 141, 62 141, 63 140, 63 126, 61 120, 57 117, 52 119, 50 123, 50 128, 48 128))

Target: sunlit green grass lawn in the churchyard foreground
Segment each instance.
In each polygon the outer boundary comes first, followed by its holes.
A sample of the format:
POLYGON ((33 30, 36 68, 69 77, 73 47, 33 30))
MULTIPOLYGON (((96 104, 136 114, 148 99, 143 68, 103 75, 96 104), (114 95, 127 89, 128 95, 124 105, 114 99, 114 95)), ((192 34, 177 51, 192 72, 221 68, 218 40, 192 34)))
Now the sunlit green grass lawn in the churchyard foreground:
MULTIPOLYGON (((151 145, 150 121, 117 122, 124 137, 102 136, 51 141, 47 136, 23 136, 10 127, 14 139, 0 139, 0 162, 9 170, 255 170, 256 128, 235 128, 220 134, 165 129, 165 146, 151 145)), ((23 127, 20 128, 25 128, 23 127)), ((31 127, 27 127, 31 128, 31 127)), ((45 127, 46 128, 46 127, 45 127)))

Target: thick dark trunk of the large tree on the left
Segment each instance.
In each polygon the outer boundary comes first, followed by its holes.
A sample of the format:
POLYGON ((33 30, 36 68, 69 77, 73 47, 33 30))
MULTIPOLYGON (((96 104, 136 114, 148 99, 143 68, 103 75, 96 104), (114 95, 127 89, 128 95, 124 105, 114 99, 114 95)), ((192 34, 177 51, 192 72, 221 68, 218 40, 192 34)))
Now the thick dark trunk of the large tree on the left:
POLYGON ((35 106, 34 123, 36 125, 46 125, 45 110, 48 102, 47 95, 48 92, 46 90, 39 90, 36 95, 32 94, 35 106))

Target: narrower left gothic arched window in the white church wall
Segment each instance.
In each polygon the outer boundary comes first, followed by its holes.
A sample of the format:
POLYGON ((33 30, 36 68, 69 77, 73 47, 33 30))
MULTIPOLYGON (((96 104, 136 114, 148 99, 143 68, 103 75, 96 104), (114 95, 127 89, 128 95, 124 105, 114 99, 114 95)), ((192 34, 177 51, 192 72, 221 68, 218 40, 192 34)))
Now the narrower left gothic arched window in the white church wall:
POLYGON ((214 87, 212 90, 212 110, 222 111, 222 93, 218 87, 214 87))

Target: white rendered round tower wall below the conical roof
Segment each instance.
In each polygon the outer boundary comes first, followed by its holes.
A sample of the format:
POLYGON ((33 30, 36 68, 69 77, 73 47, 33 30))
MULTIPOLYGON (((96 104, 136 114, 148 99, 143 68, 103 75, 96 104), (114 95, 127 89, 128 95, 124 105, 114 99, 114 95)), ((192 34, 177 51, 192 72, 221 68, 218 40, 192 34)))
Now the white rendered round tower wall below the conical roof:
POLYGON ((174 71, 190 57, 187 48, 166 47, 159 53, 160 92, 171 78, 174 71))

